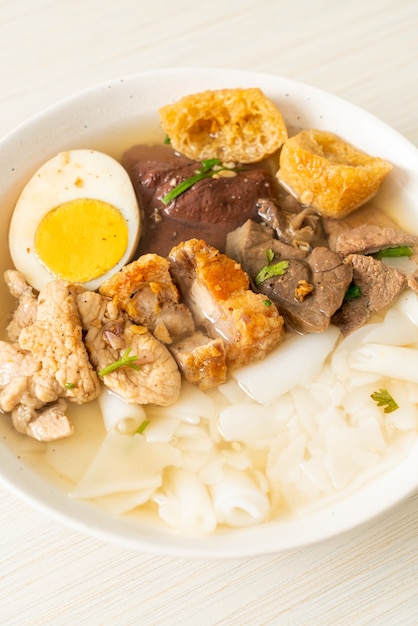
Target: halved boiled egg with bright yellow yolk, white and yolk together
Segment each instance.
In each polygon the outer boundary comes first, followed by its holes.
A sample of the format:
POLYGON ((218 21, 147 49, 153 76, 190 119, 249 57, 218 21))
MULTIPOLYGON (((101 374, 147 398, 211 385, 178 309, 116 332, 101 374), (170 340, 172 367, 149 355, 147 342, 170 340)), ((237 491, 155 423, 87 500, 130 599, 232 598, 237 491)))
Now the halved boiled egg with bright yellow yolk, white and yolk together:
POLYGON ((129 262, 140 212, 126 170, 95 150, 60 152, 29 180, 14 209, 13 263, 40 290, 54 278, 97 287, 129 262))

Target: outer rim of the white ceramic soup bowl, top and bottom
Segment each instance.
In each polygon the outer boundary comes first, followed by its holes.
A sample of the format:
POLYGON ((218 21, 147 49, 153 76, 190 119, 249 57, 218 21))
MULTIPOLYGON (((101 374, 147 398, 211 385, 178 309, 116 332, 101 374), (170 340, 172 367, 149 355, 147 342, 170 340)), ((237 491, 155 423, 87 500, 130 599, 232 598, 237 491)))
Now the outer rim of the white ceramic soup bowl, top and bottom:
MULTIPOLYGON (((97 104, 97 99, 104 97, 105 94, 106 97, 109 97, 111 94, 109 106, 114 106, 115 100, 112 99, 113 97, 116 98, 116 101, 118 101, 118 98, 132 100, 132 96, 129 95, 130 90, 134 88, 137 89, 138 85, 148 85, 149 88, 156 88, 161 84, 161 81, 167 81, 170 87, 176 85, 176 88, 173 89, 173 93, 177 93, 183 89, 183 85, 189 84, 191 80, 195 80, 199 85, 208 84, 209 86, 207 88, 216 88, 213 85, 217 84, 227 86, 229 81, 231 81, 231 86, 239 86, 239 84, 243 83, 249 86, 251 82, 256 82, 257 86, 265 89, 266 86, 270 85, 275 94, 280 92, 284 103, 286 99, 288 99, 289 106, 292 97, 300 98, 301 101, 305 103, 310 102, 313 106, 312 116, 315 117, 319 123, 322 123, 320 121, 320 109, 325 103, 326 106, 331 107, 332 111, 336 111, 337 109, 340 111, 340 116, 334 115, 332 118, 332 125, 336 126, 336 128, 330 128, 329 130, 334 130, 334 132, 338 132, 339 124, 341 127, 344 127, 342 116, 351 114, 354 118, 361 120, 363 125, 365 124, 369 128, 382 133, 385 141, 383 141, 381 137, 375 138, 376 147, 386 145, 387 149, 387 139, 389 137, 399 148, 402 158, 400 158, 397 166, 400 171, 405 170, 406 176, 400 176, 399 184, 395 185, 392 192, 389 190, 389 194, 393 193, 396 196, 396 194, 399 193, 401 185, 405 183, 405 180, 407 183, 412 184, 411 190, 408 185, 406 185, 406 192, 409 193, 410 197, 415 194, 415 190, 418 192, 418 175, 415 174, 414 178, 413 173, 411 173, 414 168, 415 171, 418 171, 417 148, 385 122, 355 104, 315 86, 269 73, 211 67, 181 67, 147 70, 115 78, 110 81, 99 82, 58 100, 18 124, 14 129, 0 138, 0 167, 3 161, 7 165, 9 173, 12 173, 11 193, 16 193, 21 181, 19 183, 19 165, 12 167, 14 160, 10 157, 9 152, 17 153, 19 142, 23 141, 26 134, 35 136, 39 124, 42 125, 42 123, 45 123, 45 121, 50 118, 53 120, 63 119, 63 115, 66 112, 69 112, 71 109, 77 109, 77 107, 80 107, 80 110, 84 107, 83 110, 85 111, 86 119, 93 119, 93 105, 94 103, 97 104), (292 93, 296 94, 296 96, 289 95, 292 93), (81 103, 84 103, 83 106, 81 103)), ((188 92, 184 92, 183 95, 197 90, 200 89, 191 87, 191 89, 188 92)), ((268 89, 265 90, 268 92, 268 89)), ((135 100, 135 98, 133 99, 135 100)), ((140 103, 147 102, 146 97, 144 99, 141 94, 137 99, 140 103)), ((161 104, 166 103, 166 100, 167 96, 165 96, 165 101, 162 101, 161 104)), ((131 101, 129 101, 128 108, 129 111, 131 111, 131 101)), ((98 113, 99 118, 105 119, 106 113, 107 109, 104 107, 103 110, 98 113)), ((323 115, 322 117, 326 122, 327 116, 323 115)), ((302 125, 303 122, 301 120, 301 126, 302 125)), ((87 127, 88 124, 86 130, 87 127)), ((325 127, 326 124, 324 124, 324 128, 325 127)), ((68 130, 65 132, 68 132, 68 130)), ((82 134, 82 131, 79 132, 82 134)), ((57 136, 52 135, 52 137, 55 141, 59 142, 59 133, 57 136)), ((353 143, 357 143, 359 147, 362 147, 362 144, 368 144, 368 139, 367 137, 365 139, 362 137, 362 132, 358 131, 356 137, 358 137, 358 141, 353 139, 353 143)), ((47 139, 49 139, 49 136, 47 139)), ((44 157, 42 155, 39 156, 39 160, 44 160, 44 157)), ((0 189, 2 189, 1 176, 0 189)), ((418 193, 416 197, 418 197, 418 193)), ((415 206, 417 207, 416 212, 418 215, 418 205, 416 202, 415 206)), ((406 215, 405 219, 407 219, 407 217, 408 215, 406 215)), ((289 522, 292 526, 290 534, 286 522, 277 524, 277 522, 273 521, 271 523, 257 525, 253 528, 240 529, 239 531, 227 532, 225 534, 215 534, 209 537, 188 537, 171 532, 169 529, 164 529, 163 533, 157 529, 147 536, 141 536, 140 532, 138 532, 138 524, 135 522, 135 526, 131 524, 126 525, 126 532, 122 536, 119 529, 120 518, 109 517, 108 513, 99 511, 89 503, 74 503, 74 501, 68 498, 67 494, 65 494, 64 497, 61 488, 51 485, 42 477, 34 474, 33 470, 25 466, 22 461, 16 459, 3 443, 2 448, 4 448, 4 452, 0 456, 0 483, 33 508, 43 511, 49 517, 84 534, 100 538, 113 544, 119 544, 125 548, 181 557, 242 558, 306 547, 326 539, 331 539, 349 530, 358 529, 362 525, 371 522, 394 506, 400 504, 418 488, 418 478, 413 480, 411 477, 414 472, 415 476, 418 476, 418 460, 414 462, 412 458, 413 455, 409 454, 395 467, 385 471, 383 476, 377 476, 373 479, 372 484, 377 490, 380 490, 377 501, 370 501, 368 497, 370 484, 366 484, 362 486, 360 490, 354 490, 348 495, 344 495, 341 499, 333 500, 332 504, 327 509, 327 523, 323 523, 324 509, 322 507, 314 511, 310 517, 313 527, 308 534, 306 534, 305 521, 292 518, 289 522), (409 480, 405 480, 405 475, 407 477, 409 476, 409 480), (389 495, 385 492, 385 488, 388 485, 391 487, 389 495), (347 497, 349 500, 346 499, 347 497), (352 507, 360 508, 360 512, 358 512, 354 518, 352 507), (275 532, 272 530, 273 526, 277 526, 275 532), (280 535, 283 531, 285 531, 284 536, 276 536, 276 534, 280 535), (263 542, 261 544, 255 541, 260 534, 263 535, 263 542)), ((416 457, 418 457, 418 454, 416 457)), ((148 531, 148 528, 146 530, 148 531)))

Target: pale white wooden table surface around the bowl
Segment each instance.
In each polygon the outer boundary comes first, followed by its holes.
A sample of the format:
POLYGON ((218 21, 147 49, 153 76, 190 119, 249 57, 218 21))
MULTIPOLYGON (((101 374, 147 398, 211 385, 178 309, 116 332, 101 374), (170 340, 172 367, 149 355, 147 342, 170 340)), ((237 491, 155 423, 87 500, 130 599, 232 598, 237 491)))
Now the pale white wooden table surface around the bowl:
MULTIPOLYGON (((416 0, 0 0, 0 136, 91 84, 175 66, 311 83, 418 146, 416 0)), ((223 562, 107 545, 3 489, 0 624, 418 624, 418 495, 332 541, 223 562)))

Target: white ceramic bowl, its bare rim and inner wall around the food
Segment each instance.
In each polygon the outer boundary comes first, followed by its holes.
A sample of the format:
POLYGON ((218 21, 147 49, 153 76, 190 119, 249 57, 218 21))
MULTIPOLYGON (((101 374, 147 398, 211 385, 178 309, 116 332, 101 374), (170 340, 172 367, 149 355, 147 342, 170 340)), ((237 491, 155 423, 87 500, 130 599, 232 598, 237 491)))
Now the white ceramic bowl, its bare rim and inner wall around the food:
MULTIPOLYGON (((253 86, 263 89, 276 102, 289 128, 329 130, 391 161, 394 170, 381 190, 379 202, 396 206, 400 222, 417 231, 418 151, 381 121, 333 95, 277 76, 219 69, 172 69, 141 73, 83 91, 31 118, 0 141, 1 270, 11 263, 7 233, 14 203, 24 183, 49 157, 60 150, 82 147, 118 156, 123 147, 137 141, 144 120, 150 121, 151 126, 157 124, 158 107, 204 89, 253 86)), ((4 320, 11 299, 3 285, 0 289, 4 320)), ((73 528, 142 551, 228 558, 294 549, 358 527, 418 487, 416 443, 396 467, 316 511, 226 534, 187 537, 146 521, 111 517, 88 503, 70 499, 59 482, 45 477, 40 465, 25 459, 24 437, 21 451, 10 443, 6 422, 0 420, 0 477, 5 486, 73 528)))

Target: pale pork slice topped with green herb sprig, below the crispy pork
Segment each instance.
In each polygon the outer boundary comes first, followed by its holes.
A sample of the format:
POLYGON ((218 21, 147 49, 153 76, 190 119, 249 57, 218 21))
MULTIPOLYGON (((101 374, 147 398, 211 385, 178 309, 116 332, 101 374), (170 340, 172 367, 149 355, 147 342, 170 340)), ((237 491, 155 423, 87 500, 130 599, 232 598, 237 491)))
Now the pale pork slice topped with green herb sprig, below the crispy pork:
POLYGON ((119 361, 130 349, 139 369, 118 367, 103 376, 103 383, 126 402, 169 406, 180 395, 181 376, 167 348, 144 326, 132 324, 114 300, 91 292, 77 298, 91 362, 100 372, 119 361))

